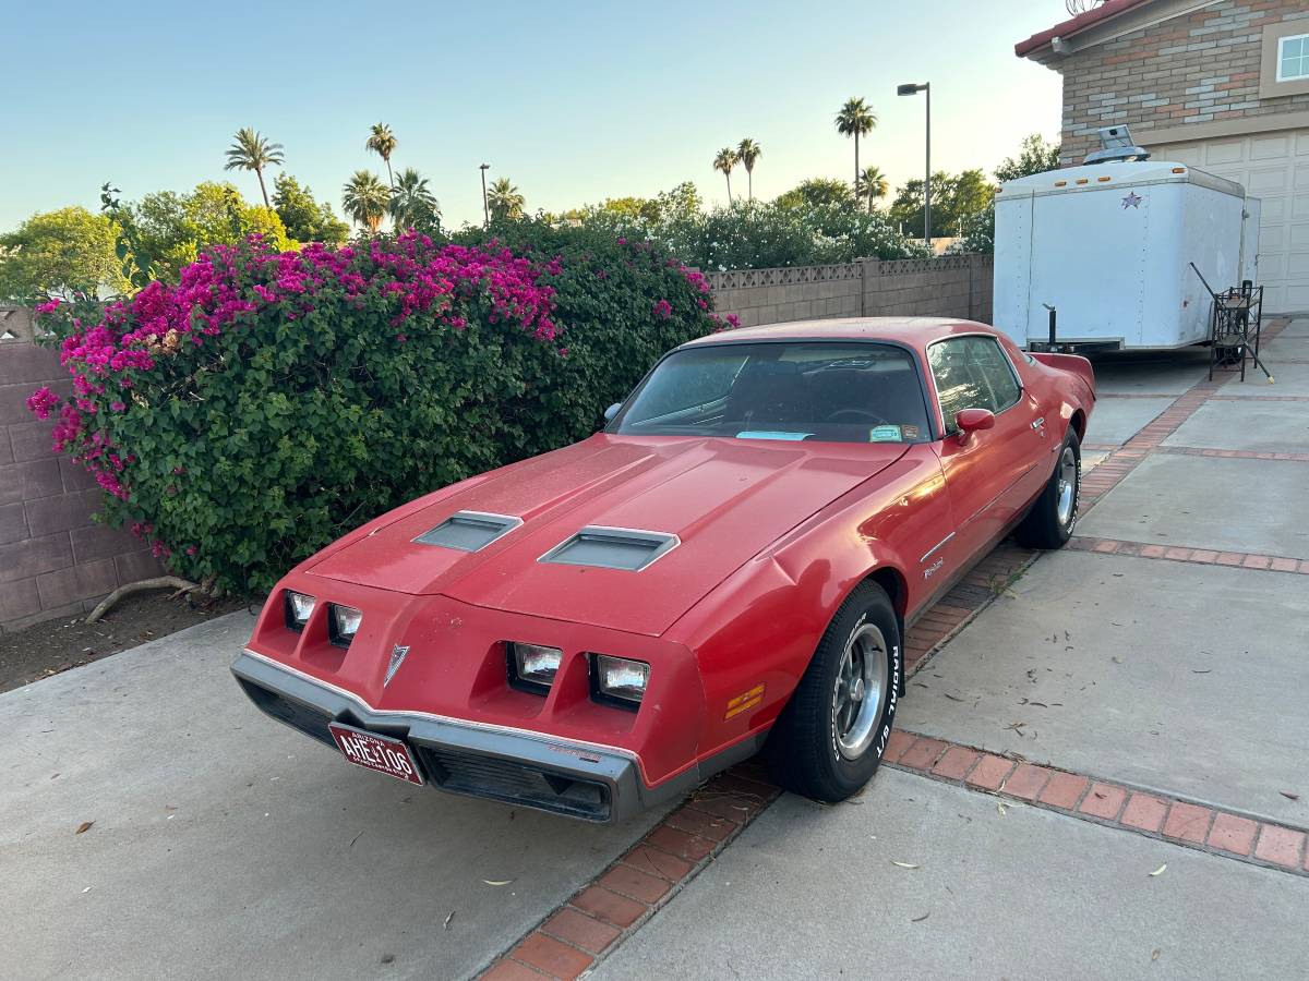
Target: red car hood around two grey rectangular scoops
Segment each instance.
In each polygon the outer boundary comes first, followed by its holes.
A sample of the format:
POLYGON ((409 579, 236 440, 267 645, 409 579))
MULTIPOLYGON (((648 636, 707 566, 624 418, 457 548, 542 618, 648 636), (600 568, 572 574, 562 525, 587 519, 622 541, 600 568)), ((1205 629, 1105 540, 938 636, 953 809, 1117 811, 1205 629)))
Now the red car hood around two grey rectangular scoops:
POLYGON ((898 443, 598 434, 402 509, 308 572, 658 636, 768 544, 905 454, 898 443), (476 552, 416 543, 457 511, 520 518, 476 552), (639 572, 539 561, 583 527, 675 535, 639 572))

